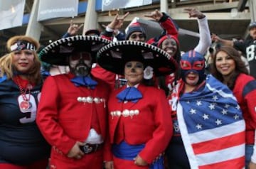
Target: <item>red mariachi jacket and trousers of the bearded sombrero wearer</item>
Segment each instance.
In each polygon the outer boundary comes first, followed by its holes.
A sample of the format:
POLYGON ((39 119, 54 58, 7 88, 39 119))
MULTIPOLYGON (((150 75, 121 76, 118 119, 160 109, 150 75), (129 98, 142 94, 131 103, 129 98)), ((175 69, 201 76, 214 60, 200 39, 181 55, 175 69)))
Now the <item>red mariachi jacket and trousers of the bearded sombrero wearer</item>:
POLYGON ((78 87, 70 81, 73 77, 75 75, 68 74, 50 76, 46 79, 36 122, 43 136, 53 146, 50 154, 51 168, 101 169, 103 152, 107 154, 110 151, 110 146, 107 147, 106 112, 110 89, 105 82, 94 77, 92 78, 97 82, 95 89, 78 87), (75 142, 85 142, 92 128, 102 136, 105 147, 94 153, 85 154, 79 160, 68 158, 67 154, 75 142))

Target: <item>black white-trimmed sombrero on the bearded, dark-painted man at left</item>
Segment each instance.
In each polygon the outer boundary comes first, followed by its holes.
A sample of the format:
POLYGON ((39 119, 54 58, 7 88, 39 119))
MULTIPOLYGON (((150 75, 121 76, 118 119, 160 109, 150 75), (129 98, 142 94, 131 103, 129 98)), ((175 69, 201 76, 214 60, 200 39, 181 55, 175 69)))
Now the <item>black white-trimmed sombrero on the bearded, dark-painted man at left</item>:
POLYGON ((51 65, 68 65, 67 57, 70 54, 88 52, 92 55, 92 62, 96 62, 97 52, 109 43, 110 40, 96 36, 70 36, 47 45, 41 50, 39 57, 51 65))

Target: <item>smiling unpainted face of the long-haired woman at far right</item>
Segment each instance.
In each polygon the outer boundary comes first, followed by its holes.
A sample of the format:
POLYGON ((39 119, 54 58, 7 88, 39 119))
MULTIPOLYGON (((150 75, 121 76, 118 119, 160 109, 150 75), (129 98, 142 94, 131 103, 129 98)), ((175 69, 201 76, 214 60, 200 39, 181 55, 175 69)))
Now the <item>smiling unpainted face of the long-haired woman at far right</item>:
POLYGON ((220 51, 216 55, 215 66, 221 75, 228 76, 235 70, 235 61, 228 53, 220 51))

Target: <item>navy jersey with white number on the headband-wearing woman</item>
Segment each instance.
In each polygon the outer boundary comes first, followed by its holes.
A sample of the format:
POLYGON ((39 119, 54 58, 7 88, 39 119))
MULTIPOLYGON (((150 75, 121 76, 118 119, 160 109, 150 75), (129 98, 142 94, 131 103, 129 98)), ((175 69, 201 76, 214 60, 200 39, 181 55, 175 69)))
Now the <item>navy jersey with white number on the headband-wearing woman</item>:
POLYGON ((18 85, 0 77, 0 163, 26 165, 48 158, 50 146, 36 125, 36 111, 42 85, 27 92, 31 104, 21 109, 23 102, 18 85))

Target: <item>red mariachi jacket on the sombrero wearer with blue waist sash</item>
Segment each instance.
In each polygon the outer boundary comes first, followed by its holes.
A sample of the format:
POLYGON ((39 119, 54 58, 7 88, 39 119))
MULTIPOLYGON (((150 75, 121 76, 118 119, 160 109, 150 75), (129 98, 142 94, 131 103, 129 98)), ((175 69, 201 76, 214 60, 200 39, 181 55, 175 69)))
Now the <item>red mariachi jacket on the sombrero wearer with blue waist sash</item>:
POLYGON ((138 102, 119 102, 117 94, 126 86, 114 90, 108 102, 110 142, 126 141, 130 145, 145 143, 139 153, 147 163, 163 153, 168 145, 173 125, 168 101, 164 91, 139 84, 142 92, 138 102), (118 112, 121 114, 118 115, 118 112))

